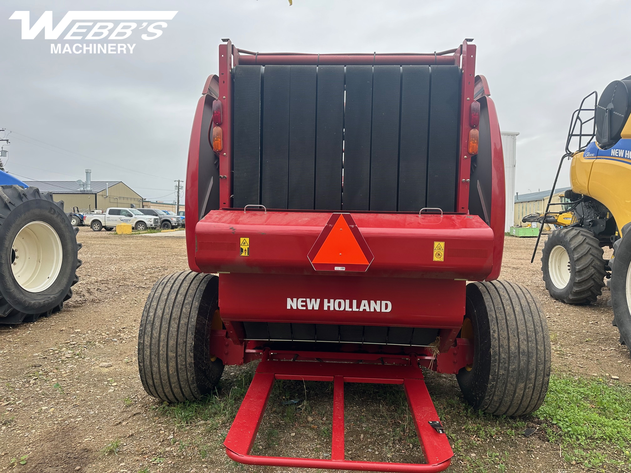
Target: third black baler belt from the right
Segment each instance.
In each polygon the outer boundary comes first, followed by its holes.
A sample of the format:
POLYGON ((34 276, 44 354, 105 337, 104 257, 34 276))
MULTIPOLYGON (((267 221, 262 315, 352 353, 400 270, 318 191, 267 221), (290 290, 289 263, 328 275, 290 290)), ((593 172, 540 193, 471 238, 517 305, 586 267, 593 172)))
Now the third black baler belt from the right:
POLYGON ((374 66, 370 210, 396 212, 401 67, 374 66))

